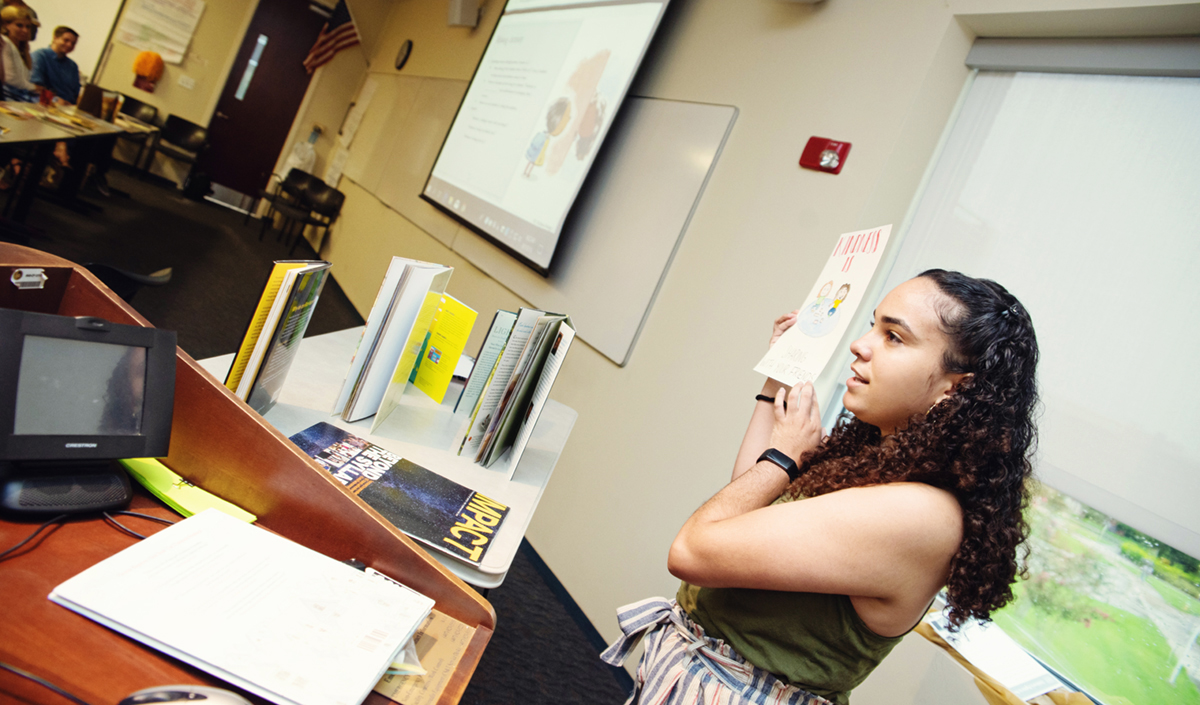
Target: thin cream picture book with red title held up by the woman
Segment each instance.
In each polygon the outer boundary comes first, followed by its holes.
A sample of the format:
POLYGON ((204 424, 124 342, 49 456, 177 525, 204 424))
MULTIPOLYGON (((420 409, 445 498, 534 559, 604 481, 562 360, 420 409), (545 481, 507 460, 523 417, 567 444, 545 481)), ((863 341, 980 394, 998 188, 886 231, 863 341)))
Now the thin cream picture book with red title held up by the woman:
POLYGON ((796 325, 780 336, 755 372, 791 386, 821 374, 863 301, 890 234, 892 225, 883 225, 838 237, 796 325))

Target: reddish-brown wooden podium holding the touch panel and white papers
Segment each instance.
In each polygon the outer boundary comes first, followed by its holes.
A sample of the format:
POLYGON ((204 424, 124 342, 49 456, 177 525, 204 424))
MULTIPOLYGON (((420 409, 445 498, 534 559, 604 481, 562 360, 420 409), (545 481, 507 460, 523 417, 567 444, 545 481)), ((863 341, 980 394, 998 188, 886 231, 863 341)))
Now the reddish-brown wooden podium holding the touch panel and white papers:
MULTIPOLYGON (((0 243, 0 307, 60 315, 95 315, 149 326, 82 266, 0 243), (43 288, 19 289, 18 269, 41 269, 43 288)), ((0 344, 4 344, 0 341, 0 344)), ((462 697, 496 628, 491 604, 365 502, 344 492, 280 432, 233 396, 182 350, 176 351, 174 424, 163 463, 188 482, 258 516, 258 525, 336 560, 356 559, 432 597, 436 609, 475 629, 438 703, 462 697)), ((146 493, 133 507, 178 519, 146 493)), ((143 534, 161 525, 125 518, 143 534)), ((0 520, 0 550, 38 522, 0 520)), ((230 686, 127 639, 47 599, 59 583, 137 540, 101 520, 70 520, 0 561, 0 661, 38 675, 90 703, 116 703, 134 691, 172 683, 230 686)), ((188 609, 180 604, 180 609, 188 609)), ((56 695, 0 670, 0 700, 43 703, 56 695)), ((260 699, 251 698, 260 701, 260 699)), ((372 693, 366 703, 386 698, 372 693)))

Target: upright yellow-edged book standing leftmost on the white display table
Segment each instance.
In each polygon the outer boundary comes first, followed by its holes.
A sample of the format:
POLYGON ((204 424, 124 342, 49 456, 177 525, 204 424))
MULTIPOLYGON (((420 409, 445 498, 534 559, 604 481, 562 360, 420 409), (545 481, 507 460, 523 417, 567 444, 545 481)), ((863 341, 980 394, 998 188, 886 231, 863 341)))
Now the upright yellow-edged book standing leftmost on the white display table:
POLYGON ((278 260, 266 278, 226 376, 226 387, 259 414, 278 399, 329 267, 320 260, 278 260))

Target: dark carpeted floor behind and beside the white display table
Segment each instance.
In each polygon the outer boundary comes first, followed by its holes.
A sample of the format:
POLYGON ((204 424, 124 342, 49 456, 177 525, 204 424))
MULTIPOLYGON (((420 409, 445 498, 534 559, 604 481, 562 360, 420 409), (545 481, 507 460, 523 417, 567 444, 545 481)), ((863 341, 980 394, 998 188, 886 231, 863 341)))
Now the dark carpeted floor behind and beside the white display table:
MULTIPOLYGON (((241 213, 186 199, 174 188, 119 169, 109 174, 109 183, 128 198, 85 197, 103 212, 79 213, 35 203, 28 224, 46 236, 29 245, 76 263, 103 263, 139 273, 172 267, 168 284, 143 288, 131 303, 155 326, 176 331, 180 347, 193 357, 236 350, 274 260, 314 257, 306 242, 289 257, 275 233, 258 240, 257 221, 242 224, 241 213)), ((307 335, 364 323, 336 276, 335 267, 335 279, 326 283, 307 335)), ((522 543, 504 584, 487 598, 497 613, 497 629, 463 704, 624 701, 632 685, 629 675, 600 662, 599 634, 528 542, 522 543)))

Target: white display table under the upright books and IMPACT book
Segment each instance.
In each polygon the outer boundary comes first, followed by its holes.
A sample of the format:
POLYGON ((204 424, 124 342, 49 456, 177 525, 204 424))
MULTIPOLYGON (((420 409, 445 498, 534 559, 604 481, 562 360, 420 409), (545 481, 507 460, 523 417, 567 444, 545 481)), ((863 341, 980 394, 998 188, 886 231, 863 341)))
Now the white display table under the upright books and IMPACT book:
MULTIPOLYGON (((577 414, 554 400, 547 402, 511 480, 508 478, 506 454, 492 468, 456 454, 469 422, 466 412, 454 412, 461 391, 458 385, 451 386, 440 405, 409 386, 401 405, 376 434, 371 434, 372 418, 347 423, 330 414, 361 333, 362 329, 356 327, 305 338, 288 370, 278 403, 264 418, 288 436, 325 421, 508 505, 509 516, 479 567, 440 552, 430 552, 467 583, 485 589, 498 586, 512 565, 577 414)), ((224 380, 233 357, 233 354, 221 355, 199 363, 218 380, 224 380)))

